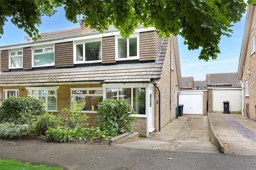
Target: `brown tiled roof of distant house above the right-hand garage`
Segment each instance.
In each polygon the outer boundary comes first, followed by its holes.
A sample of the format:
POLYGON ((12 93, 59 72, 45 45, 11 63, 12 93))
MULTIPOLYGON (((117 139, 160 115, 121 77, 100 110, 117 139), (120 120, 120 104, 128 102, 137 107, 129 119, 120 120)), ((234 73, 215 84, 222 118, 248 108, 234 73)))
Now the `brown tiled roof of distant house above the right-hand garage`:
POLYGON ((241 84, 239 80, 237 80, 237 73, 214 73, 214 74, 206 74, 206 84, 241 84))

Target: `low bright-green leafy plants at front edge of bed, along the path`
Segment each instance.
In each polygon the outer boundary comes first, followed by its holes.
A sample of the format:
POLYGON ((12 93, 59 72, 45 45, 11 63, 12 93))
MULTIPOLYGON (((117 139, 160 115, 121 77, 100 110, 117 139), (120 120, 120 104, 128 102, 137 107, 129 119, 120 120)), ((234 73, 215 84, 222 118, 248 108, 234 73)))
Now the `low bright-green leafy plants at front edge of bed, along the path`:
POLYGON ((50 128, 46 131, 46 141, 53 142, 71 142, 71 141, 86 141, 94 134, 93 130, 85 128, 50 128), (87 139, 86 139, 87 138, 87 139))

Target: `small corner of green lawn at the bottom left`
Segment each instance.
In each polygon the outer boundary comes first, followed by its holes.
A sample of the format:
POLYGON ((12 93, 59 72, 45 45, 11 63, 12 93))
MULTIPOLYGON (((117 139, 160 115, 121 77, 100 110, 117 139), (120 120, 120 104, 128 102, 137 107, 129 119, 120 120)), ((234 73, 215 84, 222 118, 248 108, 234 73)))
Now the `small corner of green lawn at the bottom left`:
POLYGON ((13 159, 0 159, 0 169, 1 170, 63 170, 60 167, 52 167, 52 166, 45 166, 45 165, 31 165, 30 163, 22 163, 17 162, 13 159))

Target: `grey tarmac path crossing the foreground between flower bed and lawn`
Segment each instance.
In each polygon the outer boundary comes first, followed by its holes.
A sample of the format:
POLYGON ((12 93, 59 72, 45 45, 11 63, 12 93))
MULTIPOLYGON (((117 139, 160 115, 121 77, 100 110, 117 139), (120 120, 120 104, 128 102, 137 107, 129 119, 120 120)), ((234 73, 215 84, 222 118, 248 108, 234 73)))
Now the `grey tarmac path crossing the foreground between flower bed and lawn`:
POLYGON ((173 152, 41 140, 0 140, 1 158, 62 166, 65 169, 255 169, 256 157, 173 152), (172 160, 167 160, 172 158, 172 160))

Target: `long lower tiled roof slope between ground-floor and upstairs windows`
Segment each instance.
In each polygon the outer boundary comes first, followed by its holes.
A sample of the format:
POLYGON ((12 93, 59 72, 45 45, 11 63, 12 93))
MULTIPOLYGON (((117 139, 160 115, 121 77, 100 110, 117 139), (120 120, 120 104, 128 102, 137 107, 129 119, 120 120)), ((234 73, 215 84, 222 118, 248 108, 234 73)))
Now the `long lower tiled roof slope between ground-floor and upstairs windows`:
POLYGON ((115 64, 86 66, 71 69, 44 71, 22 71, 0 73, 0 84, 53 83, 53 82, 150 82, 161 78, 168 40, 163 40, 162 48, 155 62, 137 64, 115 64))

